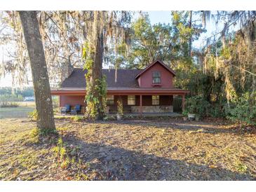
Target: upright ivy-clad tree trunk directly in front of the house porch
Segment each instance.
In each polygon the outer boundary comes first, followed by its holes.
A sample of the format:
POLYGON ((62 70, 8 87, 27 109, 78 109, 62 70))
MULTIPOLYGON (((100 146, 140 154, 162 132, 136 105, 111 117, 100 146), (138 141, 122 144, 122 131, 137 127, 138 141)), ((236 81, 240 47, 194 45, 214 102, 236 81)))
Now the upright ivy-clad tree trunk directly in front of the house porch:
MULTIPOLYGON (((93 32, 90 46, 93 51, 90 53, 92 66, 88 69, 90 79, 87 83, 86 95, 90 95, 86 100, 86 114, 88 118, 102 120, 105 116, 105 106, 103 101, 105 95, 102 95, 102 60, 103 60, 103 29, 102 29, 102 11, 94 11, 93 32), (95 102, 95 99, 97 102, 95 102), (94 103, 93 107, 89 107, 90 103, 94 103)), ((87 97, 86 96, 86 97, 87 97)))

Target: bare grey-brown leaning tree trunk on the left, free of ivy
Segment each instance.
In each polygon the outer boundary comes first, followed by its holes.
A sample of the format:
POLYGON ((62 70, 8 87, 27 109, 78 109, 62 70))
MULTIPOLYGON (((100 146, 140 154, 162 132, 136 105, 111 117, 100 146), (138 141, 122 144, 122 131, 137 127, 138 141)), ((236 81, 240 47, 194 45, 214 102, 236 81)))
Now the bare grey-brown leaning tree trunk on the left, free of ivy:
POLYGON ((55 123, 46 58, 39 32, 39 22, 36 18, 36 11, 19 11, 19 15, 32 69, 36 111, 38 114, 37 127, 43 132, 49 132, 55 130, 55 123))

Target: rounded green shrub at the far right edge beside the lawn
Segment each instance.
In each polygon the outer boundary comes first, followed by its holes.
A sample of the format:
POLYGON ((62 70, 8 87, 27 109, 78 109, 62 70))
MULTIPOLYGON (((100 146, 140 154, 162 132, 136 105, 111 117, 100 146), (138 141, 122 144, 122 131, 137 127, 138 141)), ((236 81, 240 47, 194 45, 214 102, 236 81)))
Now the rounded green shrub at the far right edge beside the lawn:
POLYGON ((231 121, 243 124, 256 125, 256 105, 253 104, 256 92, 250 96, 249 92, 245 92, 241 97, 237 97, 231 101, 231 108, 227 118, 231 121), (253 98, 254 97, 254 98, 253 98))

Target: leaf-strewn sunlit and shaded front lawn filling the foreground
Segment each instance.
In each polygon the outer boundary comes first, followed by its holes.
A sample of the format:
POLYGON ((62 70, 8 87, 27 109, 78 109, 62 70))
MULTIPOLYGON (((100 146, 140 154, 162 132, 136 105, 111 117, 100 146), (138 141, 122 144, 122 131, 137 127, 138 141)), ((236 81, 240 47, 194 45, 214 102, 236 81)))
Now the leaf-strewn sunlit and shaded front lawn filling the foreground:
POLYGON ((0 119, 1 180, 255 180, 256 132, 223 121, 0 119), (58 140, 58 142, 57 142, 58 140))

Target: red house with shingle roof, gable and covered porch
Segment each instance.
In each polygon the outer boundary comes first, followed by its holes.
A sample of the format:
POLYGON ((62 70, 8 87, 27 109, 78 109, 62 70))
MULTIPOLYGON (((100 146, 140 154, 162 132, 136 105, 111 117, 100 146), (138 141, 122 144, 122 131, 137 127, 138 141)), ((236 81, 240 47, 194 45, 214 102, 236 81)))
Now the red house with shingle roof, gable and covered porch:
MULTIPOLYGON (((175 72, 160 60, 149 64, 145 69, 102 69, 107 76, 107 112, 116 113, 117 100, 121 97, 124 113, 173 112, 173 95, 184 96, 188 90, 173 87, 175 72)), ((60 107, 65 104, 86 106, 86 71, 74 69, 52 95, 60 95, 60 107)))

